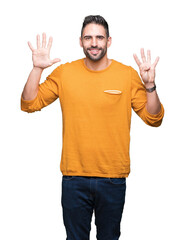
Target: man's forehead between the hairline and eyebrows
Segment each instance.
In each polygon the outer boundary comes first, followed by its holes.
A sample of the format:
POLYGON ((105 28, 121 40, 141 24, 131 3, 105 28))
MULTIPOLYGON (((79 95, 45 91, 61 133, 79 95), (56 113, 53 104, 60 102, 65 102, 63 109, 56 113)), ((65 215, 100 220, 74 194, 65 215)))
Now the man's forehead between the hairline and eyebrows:
POLYGON ((106 35, 104 26, 95 23, 89 23, 83 30, 83 36, 85 35, 106 35))

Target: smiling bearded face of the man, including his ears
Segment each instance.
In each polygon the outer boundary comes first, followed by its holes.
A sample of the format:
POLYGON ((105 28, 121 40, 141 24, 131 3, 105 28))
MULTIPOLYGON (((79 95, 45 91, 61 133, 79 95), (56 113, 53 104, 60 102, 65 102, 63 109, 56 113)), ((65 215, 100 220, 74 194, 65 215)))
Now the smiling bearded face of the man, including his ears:
POLYGON ((102 59, 111 44, 111 37, 107 39, 105 28, 102 25, 90 23, 83 30, 80 46, 87 58, 92 61, 102 59))

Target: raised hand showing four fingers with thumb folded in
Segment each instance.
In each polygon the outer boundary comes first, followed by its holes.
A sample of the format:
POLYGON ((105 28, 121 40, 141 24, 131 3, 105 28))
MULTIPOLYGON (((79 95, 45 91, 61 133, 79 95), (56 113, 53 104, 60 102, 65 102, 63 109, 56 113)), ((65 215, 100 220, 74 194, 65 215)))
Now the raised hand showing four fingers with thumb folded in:
POLYGON ((155 62, 151 64, 151 53, 150 50, 147 51, 147 59, 144 54, 144 49, 141 48, 141 62, 136 54, 133 57, 139 67, 141 78, 145 85, 153 85, 155 83, 155 67, 159 61, 159 57, 155 59, 155 62))

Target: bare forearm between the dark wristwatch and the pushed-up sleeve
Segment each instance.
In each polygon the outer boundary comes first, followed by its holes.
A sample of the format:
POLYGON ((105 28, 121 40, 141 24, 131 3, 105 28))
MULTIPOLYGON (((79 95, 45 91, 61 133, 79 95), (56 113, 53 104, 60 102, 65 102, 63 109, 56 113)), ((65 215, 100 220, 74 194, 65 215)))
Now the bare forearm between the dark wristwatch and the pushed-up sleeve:
MULTIPOLYGON (((153 86, 146 86, 146 88, 151 88, 153 86)), ((161 103, 159 100, 159 97, 157 95, 156 90, 149 93, 147 92, 147 103, 146 103, 146 109, 150 114, 157 114, 161 110, 161 103)))

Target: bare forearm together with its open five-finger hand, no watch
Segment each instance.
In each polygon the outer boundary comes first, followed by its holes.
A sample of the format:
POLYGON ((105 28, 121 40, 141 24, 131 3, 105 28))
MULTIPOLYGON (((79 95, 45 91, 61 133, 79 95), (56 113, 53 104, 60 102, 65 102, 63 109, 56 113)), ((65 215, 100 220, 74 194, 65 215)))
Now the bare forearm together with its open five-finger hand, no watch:
POLYGON ((41 79, 42 72, 45 68, 52 66, 54 63, 60 61, 60 59, 55 58, 50 59, 50 49, 52 46, 52 37, 49 38, 48 45, 46 47, 46 34, 42 35, 42 46, 40 44, 40 36, 37 35, 37 49, 34 49, 30 42, 28 45, 32 51, 32 61, 33 69, 30 72, 28 80, 24 86, 22 92, 22 98, 24 100, 33 100, 38 93, 39 82, 41 79))

